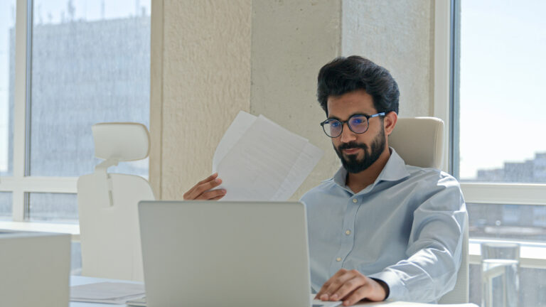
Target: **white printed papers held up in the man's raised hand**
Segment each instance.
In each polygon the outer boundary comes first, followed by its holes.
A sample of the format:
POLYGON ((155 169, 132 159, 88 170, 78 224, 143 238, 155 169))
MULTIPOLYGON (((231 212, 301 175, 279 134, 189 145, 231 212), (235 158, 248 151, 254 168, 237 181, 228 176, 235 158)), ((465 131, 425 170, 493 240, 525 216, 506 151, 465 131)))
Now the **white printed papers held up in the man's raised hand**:
POLYGON ((260 115, 239 112, 213 157, 213 173, 227 193, 222 200, 287 200, 323 151, 260 115))

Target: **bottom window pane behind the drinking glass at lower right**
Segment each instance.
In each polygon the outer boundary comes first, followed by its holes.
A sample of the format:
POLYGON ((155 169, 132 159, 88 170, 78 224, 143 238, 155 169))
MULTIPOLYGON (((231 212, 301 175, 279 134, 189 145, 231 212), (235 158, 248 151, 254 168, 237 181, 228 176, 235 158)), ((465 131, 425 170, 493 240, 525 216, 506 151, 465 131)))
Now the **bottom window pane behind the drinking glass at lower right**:
MULTIPOLYGON (((481 306, 481 266, 471 264, 469 301, 481 306)), ((520 267, 519 306, 546 306, 546 269, 520 267)))

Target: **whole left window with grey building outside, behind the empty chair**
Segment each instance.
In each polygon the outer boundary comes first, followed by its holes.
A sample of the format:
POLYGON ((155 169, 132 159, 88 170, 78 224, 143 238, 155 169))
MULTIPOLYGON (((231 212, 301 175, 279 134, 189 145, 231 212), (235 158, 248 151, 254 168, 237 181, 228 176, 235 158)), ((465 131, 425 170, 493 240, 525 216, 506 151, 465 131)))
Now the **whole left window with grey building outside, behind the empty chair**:
MULTIPOLYGON (((92 124, 149 126, 150 9, 150 0, 1 2, 0 219, 77 223, 77 177, 100 161, 92 124)), ((148 161, 110 169, 147 177, 148 161)))

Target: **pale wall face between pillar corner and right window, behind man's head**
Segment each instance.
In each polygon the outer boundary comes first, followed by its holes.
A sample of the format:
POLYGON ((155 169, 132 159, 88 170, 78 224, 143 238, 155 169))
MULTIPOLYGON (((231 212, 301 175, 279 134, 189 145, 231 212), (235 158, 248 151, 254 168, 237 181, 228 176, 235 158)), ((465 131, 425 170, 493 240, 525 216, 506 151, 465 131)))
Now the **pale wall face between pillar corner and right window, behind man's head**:
POLYGON ((432 116, 434 1, 343 1, 343 55, 363 55, 390 70, 400 116, 432 116))

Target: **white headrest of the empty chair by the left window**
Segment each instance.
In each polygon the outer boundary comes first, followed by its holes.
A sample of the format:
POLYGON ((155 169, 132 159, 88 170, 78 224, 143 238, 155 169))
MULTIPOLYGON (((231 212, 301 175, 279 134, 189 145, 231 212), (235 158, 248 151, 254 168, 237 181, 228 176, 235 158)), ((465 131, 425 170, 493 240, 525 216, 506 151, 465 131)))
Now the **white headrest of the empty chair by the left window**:
POLYGON ((106 122, 91 127, 95 156, 105 160, 135 161, 146 158, 150 135, 146 126, 134 122, 106 122))

